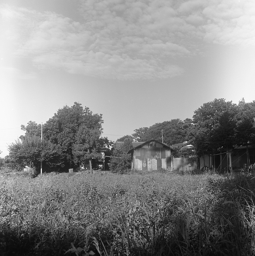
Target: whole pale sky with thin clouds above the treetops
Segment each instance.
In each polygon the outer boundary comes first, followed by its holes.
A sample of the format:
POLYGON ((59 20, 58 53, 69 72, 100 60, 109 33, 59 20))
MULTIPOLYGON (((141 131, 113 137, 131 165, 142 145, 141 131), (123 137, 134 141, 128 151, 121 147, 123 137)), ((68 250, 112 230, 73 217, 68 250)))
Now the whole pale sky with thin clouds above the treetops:
POLYGON ((255 100, 254 0, 0 0, 0 157, 79 102, 110 140, 255 100))

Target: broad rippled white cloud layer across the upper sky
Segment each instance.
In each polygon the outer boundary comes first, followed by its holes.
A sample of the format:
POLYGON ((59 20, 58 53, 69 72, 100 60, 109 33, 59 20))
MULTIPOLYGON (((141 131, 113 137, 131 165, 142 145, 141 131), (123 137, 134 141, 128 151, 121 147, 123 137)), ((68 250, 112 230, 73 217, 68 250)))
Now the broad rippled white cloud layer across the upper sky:
POLYGON ((183 70, 175 58, 195 54, 198 40, 255 42, 253 0, 80 0, 79 22, 55 12, 0 7, 4 44, 16 57, 86 76, 178 76, 183 70))

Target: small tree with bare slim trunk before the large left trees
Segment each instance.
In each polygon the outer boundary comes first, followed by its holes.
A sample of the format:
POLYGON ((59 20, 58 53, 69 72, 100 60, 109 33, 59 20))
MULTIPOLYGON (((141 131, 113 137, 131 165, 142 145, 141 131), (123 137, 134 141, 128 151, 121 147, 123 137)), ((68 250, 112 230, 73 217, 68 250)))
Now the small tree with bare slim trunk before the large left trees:
POLYGON ((87 159, 90 162, 90 172, 92 174, 92 159, 100 159, 100 135, 98 129, 88 129, 85 125, 80 126, 74 144, 74 155, 84 163, 87 159))

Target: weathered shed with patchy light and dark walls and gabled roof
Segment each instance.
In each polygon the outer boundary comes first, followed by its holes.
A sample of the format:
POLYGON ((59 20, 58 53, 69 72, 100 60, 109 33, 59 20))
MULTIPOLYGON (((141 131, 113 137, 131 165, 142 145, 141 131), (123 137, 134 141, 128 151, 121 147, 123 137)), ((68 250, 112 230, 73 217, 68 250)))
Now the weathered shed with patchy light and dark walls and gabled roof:
POLYGON ((172 148, 157 140, 146 142, 133 142, 133 148, 128 153, 131 154, 132 170, 171 170, 172 148))

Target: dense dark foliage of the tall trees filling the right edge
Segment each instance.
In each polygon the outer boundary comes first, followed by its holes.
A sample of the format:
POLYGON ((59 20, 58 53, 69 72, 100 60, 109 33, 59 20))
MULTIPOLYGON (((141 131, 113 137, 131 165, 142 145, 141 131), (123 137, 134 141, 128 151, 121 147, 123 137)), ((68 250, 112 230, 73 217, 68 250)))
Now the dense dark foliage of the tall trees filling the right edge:
POLYGON ((242 100, 237 105, 225 99, 215 99, 195 110, 189 138, 198 155, 228 150, 248 142, 254 144, 254 118, 254 102, 242 100))

